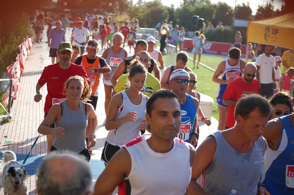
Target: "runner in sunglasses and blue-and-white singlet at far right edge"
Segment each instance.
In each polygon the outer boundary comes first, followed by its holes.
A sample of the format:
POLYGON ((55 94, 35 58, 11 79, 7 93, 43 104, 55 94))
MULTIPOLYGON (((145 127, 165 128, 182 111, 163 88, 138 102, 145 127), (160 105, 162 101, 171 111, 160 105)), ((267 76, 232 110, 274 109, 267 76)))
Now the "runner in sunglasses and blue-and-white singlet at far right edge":
POLYGON ((294 195, 294 114, 293 99, 279 92, 270 98, 273 106, 265 126, 268 142, 261 180, 271 195, 294 195))

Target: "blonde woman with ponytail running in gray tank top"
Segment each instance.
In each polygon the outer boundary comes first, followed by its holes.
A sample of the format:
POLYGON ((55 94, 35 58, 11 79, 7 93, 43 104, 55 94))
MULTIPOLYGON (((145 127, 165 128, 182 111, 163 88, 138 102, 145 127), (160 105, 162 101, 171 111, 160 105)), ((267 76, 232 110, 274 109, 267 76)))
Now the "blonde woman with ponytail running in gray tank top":
POLYGON ((85 103, 91 94, 90 89, 87 81, 78 75, 70 77, 65 83, 66 100, 52 105, 48 115, 38 128, 39 133, 55 137, 50 151, 70 150, 84 155, 90 161, 91 156, 87 146, 95 146, 95 131, 98 125, 93 106, 85 103), (88 118, 91 120, 92 126, 91 136, 87 144, 86 127, 88 118), (53 122, 55 128, 50 128, 53 122))

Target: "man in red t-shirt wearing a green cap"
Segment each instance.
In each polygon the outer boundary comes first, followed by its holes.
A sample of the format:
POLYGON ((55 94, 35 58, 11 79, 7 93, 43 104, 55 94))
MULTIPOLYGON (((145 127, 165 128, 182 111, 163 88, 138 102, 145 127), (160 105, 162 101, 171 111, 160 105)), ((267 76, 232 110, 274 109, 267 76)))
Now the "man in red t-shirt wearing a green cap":
MULTIPOLYGON (((44 107, 45 117, 53 104, 66 99, 66 95, 63 93, 64 83, 71 76, 80 75, 87 79, 89 85, 91 84, 85 69, 82 66, 71 63, 72 55, 72 44, 66 42, 60 43, 57 50, 59 62, 45 67, 36 85, 36 95, 34 100, 39 102, 42 99, 41 88, 47 83, 48 94, 46 96, 44 107)), ((54 128, 54 123, 50 127, 54 128)), ((47 135, 47 153, 50 151, 53 140, 54 136, 47 135)))

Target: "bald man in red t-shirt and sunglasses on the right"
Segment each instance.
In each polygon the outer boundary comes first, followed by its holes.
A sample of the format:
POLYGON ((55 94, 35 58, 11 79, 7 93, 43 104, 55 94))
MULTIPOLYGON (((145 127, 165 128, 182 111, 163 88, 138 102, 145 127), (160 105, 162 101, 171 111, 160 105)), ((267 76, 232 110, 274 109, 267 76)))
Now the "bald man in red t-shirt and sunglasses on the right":
POLYGON ((227 118, 225 121, 226 129, 235 125, 235 106, 242 95, 259 94, 259 82, 254 79, 257 71, 256 66, 248 63, 242 71, 243 76, 230 82, 222 97, 223 104, 228 106, 227 118))

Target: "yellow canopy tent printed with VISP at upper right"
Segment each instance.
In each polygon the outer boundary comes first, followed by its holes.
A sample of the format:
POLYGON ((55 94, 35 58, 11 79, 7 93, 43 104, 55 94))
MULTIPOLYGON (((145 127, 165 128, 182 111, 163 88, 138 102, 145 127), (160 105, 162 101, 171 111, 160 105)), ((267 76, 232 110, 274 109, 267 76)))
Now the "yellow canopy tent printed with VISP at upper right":
POLYGON ((247 27, 246 59, 249 42, 294 49, 294 12, 250 21, 247 27))

